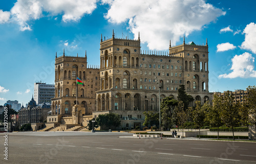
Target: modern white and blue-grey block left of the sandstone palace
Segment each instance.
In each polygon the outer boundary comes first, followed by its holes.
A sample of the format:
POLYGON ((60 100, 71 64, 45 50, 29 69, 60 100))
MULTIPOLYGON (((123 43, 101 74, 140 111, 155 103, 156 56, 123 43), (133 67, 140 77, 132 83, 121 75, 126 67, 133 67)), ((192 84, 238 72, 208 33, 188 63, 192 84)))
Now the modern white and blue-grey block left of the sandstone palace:
POLYGON ((54 98, 54 84, 34 83, 34 100, 36 104, 51 103, 54 98))

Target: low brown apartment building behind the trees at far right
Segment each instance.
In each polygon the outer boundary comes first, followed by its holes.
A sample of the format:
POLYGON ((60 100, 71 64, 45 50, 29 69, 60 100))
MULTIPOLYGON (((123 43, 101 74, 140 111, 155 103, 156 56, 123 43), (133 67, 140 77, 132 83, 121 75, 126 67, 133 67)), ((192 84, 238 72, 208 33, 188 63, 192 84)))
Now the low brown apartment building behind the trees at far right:
MULTIPOLYGON (((224 92, 214 92, 214 95, 219 95, 219 96, 224 96, 224 94, 228 91, 224 92)), ((246 97, 248 96, 248 90, 234 90, 234 91, 229 91, 230 94, 234 97, 234 103, 244 103, 246 100, 246 97)))

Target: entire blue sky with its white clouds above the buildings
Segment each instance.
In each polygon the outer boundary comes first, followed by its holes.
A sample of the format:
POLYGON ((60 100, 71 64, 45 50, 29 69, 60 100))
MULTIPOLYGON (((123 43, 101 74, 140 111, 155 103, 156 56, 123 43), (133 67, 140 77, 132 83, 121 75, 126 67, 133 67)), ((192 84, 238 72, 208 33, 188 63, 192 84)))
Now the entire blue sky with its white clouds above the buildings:
POLYGON ((99 65, 100 35, 140 38, 141 50, 209 45, 209 91, 255 85, 255 1, 0 1, 0 105, 28 103, 34 82, 54 83, 55 52, 99 65))

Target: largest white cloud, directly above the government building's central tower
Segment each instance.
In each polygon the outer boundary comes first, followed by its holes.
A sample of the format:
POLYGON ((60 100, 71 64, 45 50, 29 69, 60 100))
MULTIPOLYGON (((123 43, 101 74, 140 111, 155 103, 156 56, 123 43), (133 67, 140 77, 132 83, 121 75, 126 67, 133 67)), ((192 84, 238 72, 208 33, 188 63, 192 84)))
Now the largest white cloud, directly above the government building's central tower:
POLYGON ((142 42, 148 43, 150 49, 168 48, 169 39, 173 44, 195 30, 225 15, 221 9, 203 0, 104 0, 110 9, 104 15, 112 23, 129 21, 129 28, 142 42))

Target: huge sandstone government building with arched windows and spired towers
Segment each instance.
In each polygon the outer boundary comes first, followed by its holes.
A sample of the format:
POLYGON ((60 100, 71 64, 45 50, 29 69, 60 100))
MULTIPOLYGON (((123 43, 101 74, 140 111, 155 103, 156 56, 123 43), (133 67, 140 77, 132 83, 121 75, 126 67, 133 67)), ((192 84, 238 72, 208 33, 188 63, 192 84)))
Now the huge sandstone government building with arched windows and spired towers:
MULTIPOLYGON (((178 97, 178 88, 202 104, 212 102, 208 91, 208 43, 194 42, 172 46, 168 53, 142 51, 138 39, 100 40, 100 67, 88 66, 84 57, 55 56, 55 97, 47 124, 86 126, 99 114, 118 113, 118 129, 142 128, 144 111, 158 112, 158 103, 166 97, 178 97), (82 85, 76 84, 76 77, 82 85), (160 96, 159 96, 160 92, 160 96), (77 97, 77 101, 76 101, 77 97)), ((194 105, 195 101, 191 103, 194 105)), ((56 129, 56 128, 55 128, 56 129)))

